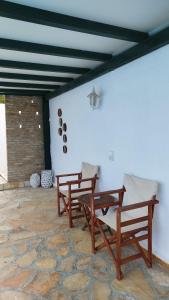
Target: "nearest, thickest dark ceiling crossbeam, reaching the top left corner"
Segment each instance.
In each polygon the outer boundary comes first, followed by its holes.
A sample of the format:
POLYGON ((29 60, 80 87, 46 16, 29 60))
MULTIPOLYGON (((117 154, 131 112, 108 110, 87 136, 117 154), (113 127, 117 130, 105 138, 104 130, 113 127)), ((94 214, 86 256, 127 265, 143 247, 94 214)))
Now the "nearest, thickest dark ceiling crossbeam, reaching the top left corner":
POLYGON ((0 1, 0 16, 132 42, 140 42, 148 36, 146 33, 137 30, 99 23, 2 0, 0 1))

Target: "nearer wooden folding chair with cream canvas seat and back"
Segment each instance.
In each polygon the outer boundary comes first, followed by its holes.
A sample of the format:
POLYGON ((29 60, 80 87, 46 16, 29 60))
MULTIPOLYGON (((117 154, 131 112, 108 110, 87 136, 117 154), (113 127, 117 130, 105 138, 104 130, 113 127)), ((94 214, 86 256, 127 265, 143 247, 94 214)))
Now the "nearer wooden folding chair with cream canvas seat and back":
MULTIPOLYGON (((158 184, 155 181, 140 177, 125 175, 126 189, 124 204, 106 215, 96 215, 93 203, 92 214, 115 264, 117 279, 122 279, 121 266, 138 258, 143 258, 147 267, 152 267, 152 219, 158 184), (113 234, 108 237, 103 230, 103 224, 108 225, 113 234), (147 240, 148 251, 145 252, 140 242, 147 240), (114 250, 111 245, 114 244, 114 250), (122 247, 135 245, 138 252, 122 257, 122 247)), ((92 199, 92 197, 91 197, 92 199)), ((93 198, 94 202, 94 198, 93 198)))

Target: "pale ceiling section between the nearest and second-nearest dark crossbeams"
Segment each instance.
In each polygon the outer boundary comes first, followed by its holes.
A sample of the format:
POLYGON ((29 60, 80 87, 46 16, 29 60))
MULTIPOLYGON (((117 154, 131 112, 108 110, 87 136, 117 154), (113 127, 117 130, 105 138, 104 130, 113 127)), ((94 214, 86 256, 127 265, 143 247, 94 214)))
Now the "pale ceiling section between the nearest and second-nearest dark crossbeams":
POLYGON ((0 37, 96 52, 117 53, 134 43, 0 17, 0 37), (25 34, 26 33, 26 34, 25 34))

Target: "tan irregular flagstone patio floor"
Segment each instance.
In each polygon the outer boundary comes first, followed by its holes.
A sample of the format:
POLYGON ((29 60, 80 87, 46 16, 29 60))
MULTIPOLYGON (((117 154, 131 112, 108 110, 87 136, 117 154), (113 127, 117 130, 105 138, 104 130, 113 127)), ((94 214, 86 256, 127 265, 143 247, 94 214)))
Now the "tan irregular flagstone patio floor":
POLYGON ((91 254, 84 224, 57 217, 54 189, 0 192, 0 300, 169 299, 169 271, 142 260, 117 281, 107 251, 91 254))

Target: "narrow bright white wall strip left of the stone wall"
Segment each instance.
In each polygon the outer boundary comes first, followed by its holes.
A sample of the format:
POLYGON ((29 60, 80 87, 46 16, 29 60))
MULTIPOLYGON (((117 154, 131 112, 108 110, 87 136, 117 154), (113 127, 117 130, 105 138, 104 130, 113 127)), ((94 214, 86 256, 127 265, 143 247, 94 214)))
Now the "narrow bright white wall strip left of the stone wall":
POLYGON ((5 104, 0 104, 0 175, 5 179, 8 177, 6 147, 5 104))

